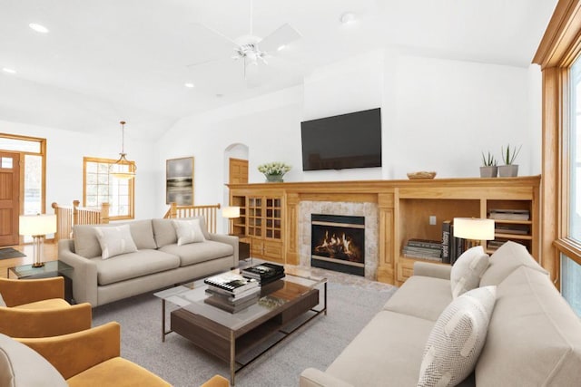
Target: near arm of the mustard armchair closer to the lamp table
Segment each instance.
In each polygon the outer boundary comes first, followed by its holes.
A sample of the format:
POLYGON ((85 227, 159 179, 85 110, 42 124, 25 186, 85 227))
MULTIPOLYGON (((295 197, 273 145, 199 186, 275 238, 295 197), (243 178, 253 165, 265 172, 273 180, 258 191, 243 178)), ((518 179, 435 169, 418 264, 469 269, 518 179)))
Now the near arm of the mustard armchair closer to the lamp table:
POLYGON ((90 304, 46 309, 0 307, 0 333, 10 337, 48 337, 91 328, 90 304))

